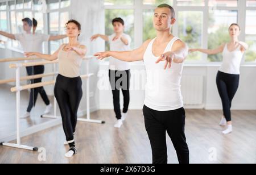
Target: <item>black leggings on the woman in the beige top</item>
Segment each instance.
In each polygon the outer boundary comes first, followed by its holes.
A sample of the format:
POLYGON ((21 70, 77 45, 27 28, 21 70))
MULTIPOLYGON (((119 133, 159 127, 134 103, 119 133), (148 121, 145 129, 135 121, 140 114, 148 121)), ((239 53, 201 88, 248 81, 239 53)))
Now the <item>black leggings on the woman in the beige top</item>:
POLYGON ((77 111, 82 99, 82 80, 80 77, 57 76, 54 94, 60 107, 63 129, 67 141, 74 139, 77 111))

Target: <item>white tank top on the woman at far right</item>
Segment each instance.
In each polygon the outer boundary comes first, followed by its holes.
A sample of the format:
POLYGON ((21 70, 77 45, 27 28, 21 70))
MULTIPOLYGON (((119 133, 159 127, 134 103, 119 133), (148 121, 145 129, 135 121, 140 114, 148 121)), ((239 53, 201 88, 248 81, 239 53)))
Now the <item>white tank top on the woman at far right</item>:
POLYGON ((229 52, 228 44, 225 45, 223 53, 223 62, 220 67, 220 72, 229 74, 240 74, 240 65, 242 62, 243 53, 238 47, 233 52, 229 52))

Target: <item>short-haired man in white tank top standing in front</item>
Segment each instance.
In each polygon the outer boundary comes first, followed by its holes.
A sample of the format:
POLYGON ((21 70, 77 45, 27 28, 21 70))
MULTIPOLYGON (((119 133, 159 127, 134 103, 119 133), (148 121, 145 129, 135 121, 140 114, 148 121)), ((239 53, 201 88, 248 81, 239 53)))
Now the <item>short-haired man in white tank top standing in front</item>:
POLYGON ((146 99, 143 114, 152 148, 154 164, 167 164, 166 132, 177 152, 179 163, 189 163, 186 143, 185 111, 180 81, 188 47, 170 34, 176 22, 174 9, 163 4, 155 9, 154 28, 157 36, 140 48, 126 52, 100 52, 98 59, 114 57, 122 61, 144 61, 147 72, 146 99))

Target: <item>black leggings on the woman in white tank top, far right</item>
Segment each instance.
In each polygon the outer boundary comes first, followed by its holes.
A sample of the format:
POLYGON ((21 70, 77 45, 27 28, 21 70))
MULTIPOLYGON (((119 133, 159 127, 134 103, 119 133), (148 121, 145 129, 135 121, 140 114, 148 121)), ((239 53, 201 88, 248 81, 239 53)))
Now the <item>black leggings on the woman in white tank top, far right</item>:
POLYGON ((231 121, 231 106, 234 95, 237 92, 239 86, 240 75, 238 74, 228 74, 223 72, 218 72, 217 74, 217 87, 218 93, 220 94, 223 114, 227 122, 231 121))

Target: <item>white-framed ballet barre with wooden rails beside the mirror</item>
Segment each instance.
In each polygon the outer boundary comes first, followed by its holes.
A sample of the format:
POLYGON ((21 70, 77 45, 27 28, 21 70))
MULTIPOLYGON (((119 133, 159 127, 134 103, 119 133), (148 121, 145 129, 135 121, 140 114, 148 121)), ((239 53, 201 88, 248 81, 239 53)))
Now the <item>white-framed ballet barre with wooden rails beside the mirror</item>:
MULTIPOLYGON (((89 73, 89 60, 92 59, 93 56, 90 57, 84 57, 83 60, 85 60, 86 62, 86 74, 81 76, 82 79, 86 79, 86 119, 77 119, 78 121, 81 122, 90 122, 90 123, 101 123, 104 124, 105 121, 102 120, 92 120, 90 119, 90 96, 89 96, 89 79, 90 77, 93 76, 93 73, 89 73)), ((7 61, 10 60, 15 60, 15 59, 5 59, 7 61)), ((19 61, 22 61, 22 59, 18 59, 19 61)), ((24 60, 27 60, 27 58, 24 60)), ((5 61, 5 62, 7 62, 5 61)), ((3 61, 2 61, 3 62, 3 61)), ((36 88, 36 87, 43 87, 43 86, 47 86, 47 85, 54 85, 55 84, 55 80, 52 81, 48 81, 48 82, 40 82, 37 84, 30 84, 30 85, 24 85, 21 86, 20 85, 20 81, 23 80, 32 80, 32 79, 36 79, 36 78, 43 78, 43 77, 48 77, 48 76, 54 76, 56 78, 56 74, 57 73, 49 73, 49 74, 39 74, 39 75, 35 75, 35 76, 27 76, 27 77, 20 77, 20 68, 24 68, 27 66, 36 66, 36 65, 47 65, 47 64, 54 64, 54 71, 56 72, 56 64, 57 62, 59 62, 58 60, 55 61, 39 61, 39 62, 24 62, 24 63, 16 63, 16 64, 10 64, 9 68, 14 68, 15 69, 15 78, 13 79, 9 79, 9 80, 3 80, 0 81, 3 83, 8 83, 8 82, 16 82, 16 86, 11 88, 12 92, 16 93, 16 143, 0 143, 3 146, 7 146, 7 147, 13 147, 13 148, 20 148, 20 149, 26 149, 29 151, 38 151, 38 147, 31 147, 31 146, 27 146, 27 145, 22 145, 21 141, 20 141, 20 91, 22 90, 27 90, 27 89, 32 89, 32 88, 36 88)), ((52 118, 52 119, 57 119, 60 118, 59 116, 57 116, 57 102, 56 102, 56 98, 54 100, 54 115, 42 115, 41 117, 44 118, 52 118)))

